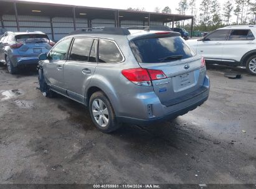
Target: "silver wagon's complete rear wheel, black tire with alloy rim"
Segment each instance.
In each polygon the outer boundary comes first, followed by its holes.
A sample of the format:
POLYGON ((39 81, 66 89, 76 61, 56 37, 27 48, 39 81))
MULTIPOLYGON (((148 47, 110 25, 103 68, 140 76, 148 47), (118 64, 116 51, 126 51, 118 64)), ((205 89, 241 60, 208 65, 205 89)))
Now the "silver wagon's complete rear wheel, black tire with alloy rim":
POLYGON ((116 121, 113 107, 102 91, 92 94, 89 109, 92 121, 100 131, 110 133, 120 127, 120 123, 116 121))

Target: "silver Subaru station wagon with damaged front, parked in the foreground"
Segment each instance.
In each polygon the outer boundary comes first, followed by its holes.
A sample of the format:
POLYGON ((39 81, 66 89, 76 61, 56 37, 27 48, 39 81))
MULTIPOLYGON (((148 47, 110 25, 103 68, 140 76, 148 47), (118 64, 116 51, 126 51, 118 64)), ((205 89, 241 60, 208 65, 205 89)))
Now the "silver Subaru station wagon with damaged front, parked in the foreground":
POLYGON ((172 31, 77 30, 39 56, 44 96, 59 93, 88 106, 95 126, 174 119, 209 96, 204 58, 172 31))

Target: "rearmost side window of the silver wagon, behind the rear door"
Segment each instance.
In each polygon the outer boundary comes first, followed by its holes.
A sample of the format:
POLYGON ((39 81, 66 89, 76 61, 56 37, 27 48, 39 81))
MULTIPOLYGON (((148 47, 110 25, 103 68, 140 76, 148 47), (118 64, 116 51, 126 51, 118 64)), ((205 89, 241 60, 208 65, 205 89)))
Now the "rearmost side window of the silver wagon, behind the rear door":
POLYGON ((123 57, 114 42, 109 40, 100 40, 98 45, 98 62, 117 63, 123 60, 123 57))

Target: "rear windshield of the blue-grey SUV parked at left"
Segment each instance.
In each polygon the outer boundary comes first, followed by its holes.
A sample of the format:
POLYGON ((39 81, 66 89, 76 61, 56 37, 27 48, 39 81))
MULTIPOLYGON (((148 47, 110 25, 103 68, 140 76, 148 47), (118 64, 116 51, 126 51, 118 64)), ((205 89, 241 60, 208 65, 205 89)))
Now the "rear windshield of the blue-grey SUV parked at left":
POLYGON ((39 44, 39 43, 49 43, 50 40, 45 34, 24 34, 16 35, 16 41, 21 44, 39 44))

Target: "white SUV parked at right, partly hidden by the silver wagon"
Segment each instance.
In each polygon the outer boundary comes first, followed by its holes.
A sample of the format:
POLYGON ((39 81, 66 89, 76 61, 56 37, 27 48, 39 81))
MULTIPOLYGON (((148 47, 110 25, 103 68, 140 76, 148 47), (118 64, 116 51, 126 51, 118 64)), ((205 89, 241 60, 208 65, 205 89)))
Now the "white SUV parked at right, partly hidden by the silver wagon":
POLYGON ((256 25, 232 25, 202 39, 187 40, 207 63, 246 67, 256 75, 256 25))

